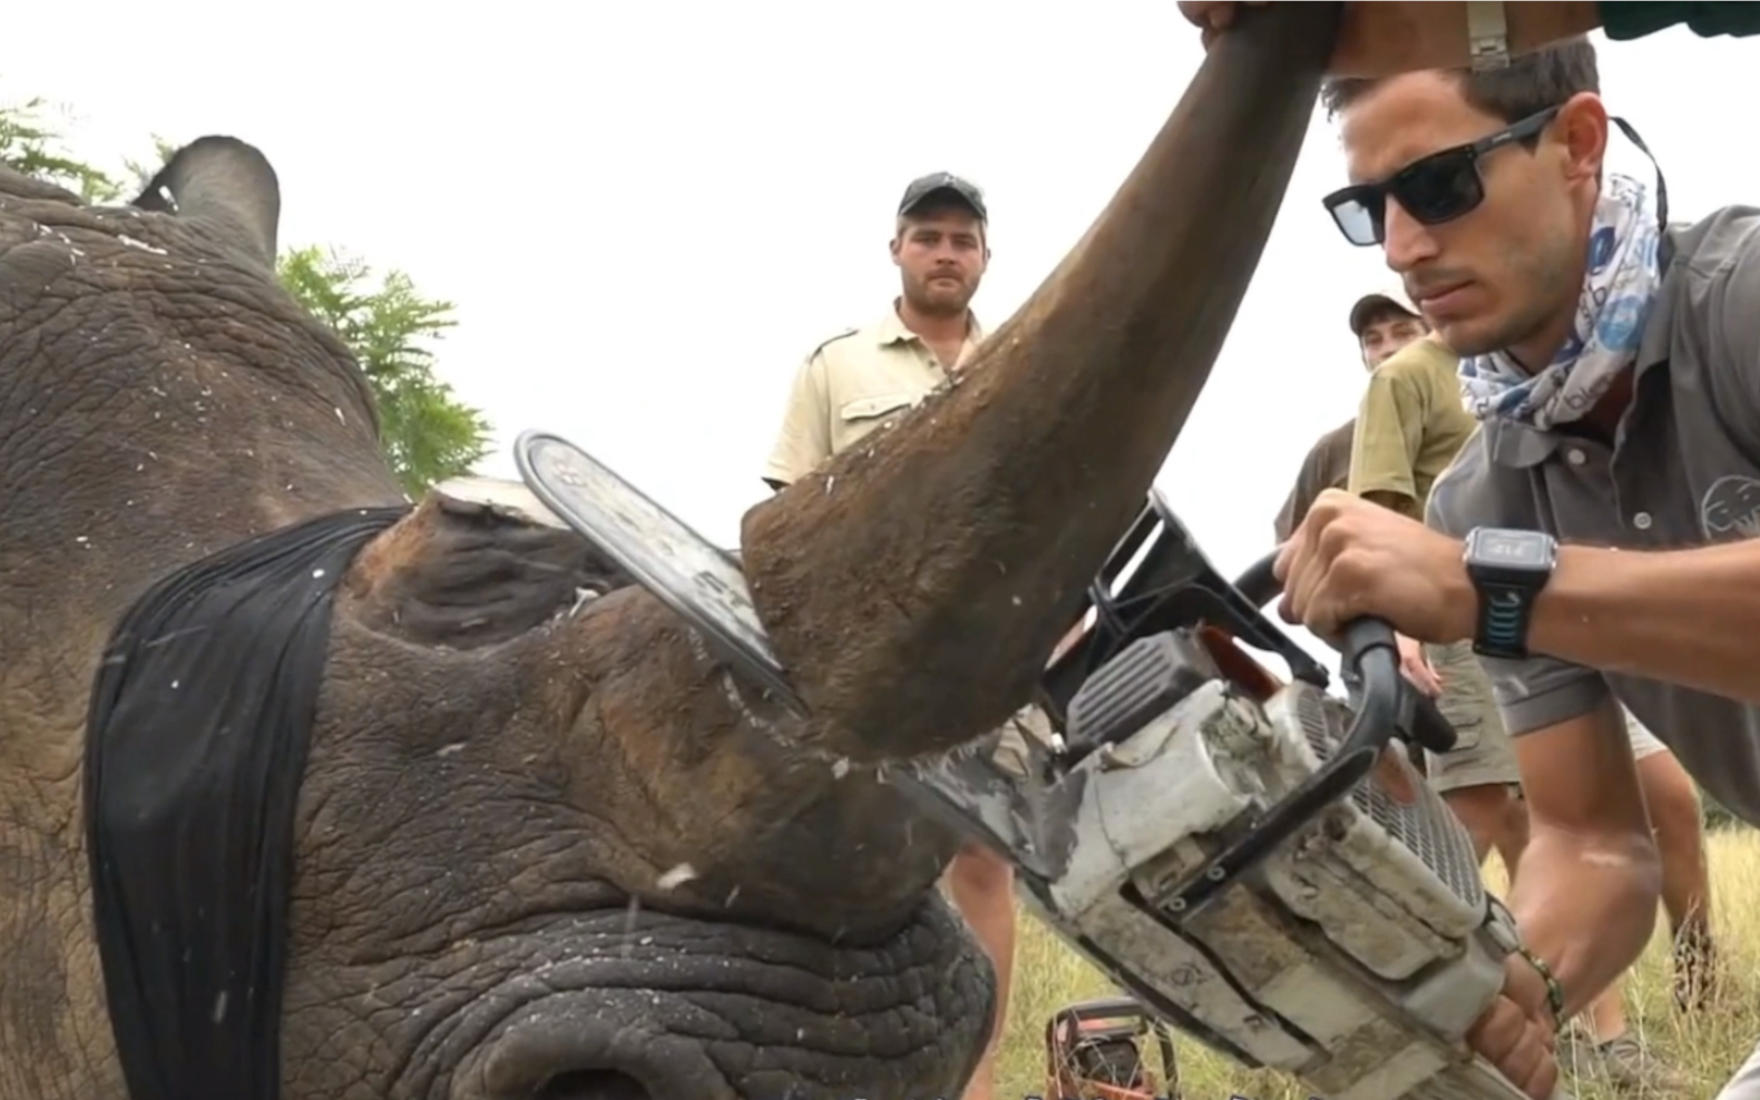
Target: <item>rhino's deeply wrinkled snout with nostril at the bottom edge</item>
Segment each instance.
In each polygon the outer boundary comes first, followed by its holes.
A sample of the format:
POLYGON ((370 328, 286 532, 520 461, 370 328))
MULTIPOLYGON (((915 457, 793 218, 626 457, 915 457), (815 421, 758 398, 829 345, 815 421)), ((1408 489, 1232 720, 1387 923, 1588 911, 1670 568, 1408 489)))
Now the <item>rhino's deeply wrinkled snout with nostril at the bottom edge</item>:
POLYGON ((929 899, 896 936, 854 949, 605 912, 486 943, 498 980, 426 1030, 422 1068, 396 1095, 954 1096, 994 1003, 989 963, 956 922, 929 899))

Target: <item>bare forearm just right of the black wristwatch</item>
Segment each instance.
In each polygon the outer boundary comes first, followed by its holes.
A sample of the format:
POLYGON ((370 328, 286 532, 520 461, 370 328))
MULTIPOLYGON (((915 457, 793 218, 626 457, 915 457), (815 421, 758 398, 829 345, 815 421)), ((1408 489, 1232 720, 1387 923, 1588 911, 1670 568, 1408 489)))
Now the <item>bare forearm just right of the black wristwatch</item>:
POLYGON ((1760 702, 1760 540, 1639 553, 1559 547, 1528 648, 1760 702))

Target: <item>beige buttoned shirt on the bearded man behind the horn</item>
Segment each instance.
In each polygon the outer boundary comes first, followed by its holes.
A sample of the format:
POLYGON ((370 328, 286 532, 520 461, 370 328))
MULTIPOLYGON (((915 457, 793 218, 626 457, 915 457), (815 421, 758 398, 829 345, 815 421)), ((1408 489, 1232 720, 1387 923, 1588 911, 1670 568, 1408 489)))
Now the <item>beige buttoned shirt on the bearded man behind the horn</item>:
MULTIPOLYGON (((959 361, 950 366, 970 359, 982 338, 973 317, 959 361)), ((799 480, 943 382, 947 368, 905 327, 896 306, 875 324, 838 333, 813 348, 796 371, 764 479, 799 480)))

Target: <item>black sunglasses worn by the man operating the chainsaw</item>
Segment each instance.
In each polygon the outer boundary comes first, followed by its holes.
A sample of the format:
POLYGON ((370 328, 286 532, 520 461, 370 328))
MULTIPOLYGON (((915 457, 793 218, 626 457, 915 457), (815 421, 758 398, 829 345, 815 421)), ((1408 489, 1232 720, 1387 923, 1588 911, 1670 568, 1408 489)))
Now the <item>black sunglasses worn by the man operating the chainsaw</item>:
POLYGON ((1452 222, 1473 213, 1485 201, 1485 180, 1478 174, 1478 160, 1507 144, 1536 136, 1558 111, 1547 107, 1471 144, 1420 157, 1380 183, 1341 187, 1320 202, 1345 239, 1360 246, 1387 239, 1389 197, 1424 225, 1452 222))

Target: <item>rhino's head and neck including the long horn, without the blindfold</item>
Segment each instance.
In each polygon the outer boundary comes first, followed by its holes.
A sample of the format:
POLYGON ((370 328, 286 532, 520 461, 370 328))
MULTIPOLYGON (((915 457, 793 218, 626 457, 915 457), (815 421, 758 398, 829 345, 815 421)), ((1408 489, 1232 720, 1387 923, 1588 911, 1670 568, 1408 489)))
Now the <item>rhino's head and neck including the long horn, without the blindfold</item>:
MULTIPOLYGON (((746 516, 810 716, 514 510, 433 493, 359 549, 290 813, 280 1096, 957 1095, 991 975, 935 891, 956 838, 882 766, 1028 699, 1220 350, 1334 7, 1250 19, 956 385, 746 516)), ((407 503, 276 283, 278 202, 227 137, 125 208, 0 174, 0 1100, 128 1095, 81 829, 116 623, 407 503)))

